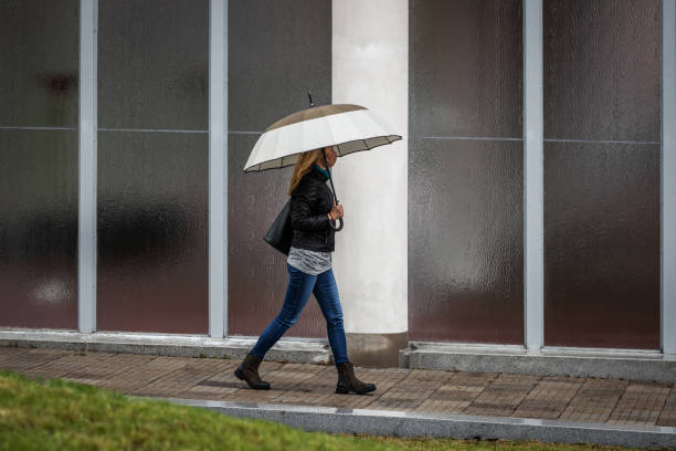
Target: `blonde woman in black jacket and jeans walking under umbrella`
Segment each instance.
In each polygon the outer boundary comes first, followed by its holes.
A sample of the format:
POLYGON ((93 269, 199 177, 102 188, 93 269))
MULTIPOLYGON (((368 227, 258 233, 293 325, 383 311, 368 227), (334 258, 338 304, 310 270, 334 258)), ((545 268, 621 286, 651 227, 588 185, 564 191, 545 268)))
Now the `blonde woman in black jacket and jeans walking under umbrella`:
POLYGON ((270 389, 270 384, 258 376, 258 366, 265 353, 296 324, 310 293, 314 293, 326 318, 328 339, 338 368, 336 392, 366 394, 376 390, 373 384, 357 379, 353 366, 348 360, 342 310, 331 270, 336 232, 329 221, 342 218, 342 206, 335 204, 334 196, 326 185, 329 179, 326 165, 332 167, 337 157, 332 147, 309 150, 298 157, 294 167, 288 188, 294 237, 286 261, 288 286, 284 305, 235 370, 235 376, 253 389, 270 389))

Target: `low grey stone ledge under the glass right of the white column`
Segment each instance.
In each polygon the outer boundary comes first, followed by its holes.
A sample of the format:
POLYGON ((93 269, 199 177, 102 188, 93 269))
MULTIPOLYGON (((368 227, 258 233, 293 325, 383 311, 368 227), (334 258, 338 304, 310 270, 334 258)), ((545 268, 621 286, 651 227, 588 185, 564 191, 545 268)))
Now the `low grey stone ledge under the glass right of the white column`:
POLYGON ((412 345, 400 353, 400 366, 676 382, 676 360, 673 356, 658 353, 545 349, 538 354, 527 354, 511 348, 412 345))

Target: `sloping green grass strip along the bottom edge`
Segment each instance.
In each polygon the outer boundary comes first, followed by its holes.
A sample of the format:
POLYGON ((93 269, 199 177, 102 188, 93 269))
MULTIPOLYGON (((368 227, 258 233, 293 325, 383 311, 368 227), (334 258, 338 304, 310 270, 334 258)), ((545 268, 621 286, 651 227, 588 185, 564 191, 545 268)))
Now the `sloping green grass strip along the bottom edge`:
POLYGON ((0 370, 0 450, 621 450, 305 432, 275 422, 0 370))

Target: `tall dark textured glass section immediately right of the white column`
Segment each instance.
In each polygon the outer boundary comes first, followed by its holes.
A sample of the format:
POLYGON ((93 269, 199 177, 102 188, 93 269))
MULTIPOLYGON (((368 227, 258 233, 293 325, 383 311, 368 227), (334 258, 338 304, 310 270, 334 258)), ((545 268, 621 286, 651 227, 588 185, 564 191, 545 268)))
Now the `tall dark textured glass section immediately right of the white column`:
POLYGON ((524 342, 521 3, 410 2, 413 339, 524 342))

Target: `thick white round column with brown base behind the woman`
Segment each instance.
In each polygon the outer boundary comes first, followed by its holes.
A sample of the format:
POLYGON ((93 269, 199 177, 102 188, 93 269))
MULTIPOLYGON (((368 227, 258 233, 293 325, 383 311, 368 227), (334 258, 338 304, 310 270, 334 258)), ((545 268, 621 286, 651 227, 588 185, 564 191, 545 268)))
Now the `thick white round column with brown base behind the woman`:
POLYGON ((345 228, 334 270, 350 359, 397 365, 408 345, 409 2, 334 0, 332 103, 372 109, 403 139, 334 168, 345 228))

